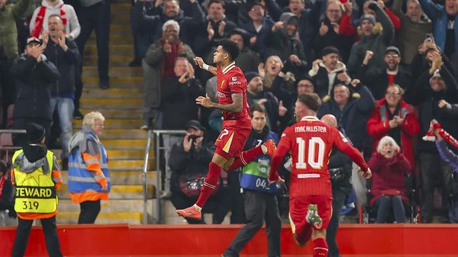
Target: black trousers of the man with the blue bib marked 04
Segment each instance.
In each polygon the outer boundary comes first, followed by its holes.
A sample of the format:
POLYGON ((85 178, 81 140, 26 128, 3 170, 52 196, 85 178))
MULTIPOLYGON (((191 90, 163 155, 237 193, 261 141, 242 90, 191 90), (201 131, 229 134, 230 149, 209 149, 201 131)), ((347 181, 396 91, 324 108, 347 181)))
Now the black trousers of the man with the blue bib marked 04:
POLYGON ((229 247, 224 251, 224 256, 238 256, 245 245, 262 228, 266 221, 267 242, 269 245, 269 257, 280 256, 280 230, 282 221, 278 213, 277 198, 271 193, 259 191, 246 191, 244 195, 245 215, 247 224, 232 240, 229 247))

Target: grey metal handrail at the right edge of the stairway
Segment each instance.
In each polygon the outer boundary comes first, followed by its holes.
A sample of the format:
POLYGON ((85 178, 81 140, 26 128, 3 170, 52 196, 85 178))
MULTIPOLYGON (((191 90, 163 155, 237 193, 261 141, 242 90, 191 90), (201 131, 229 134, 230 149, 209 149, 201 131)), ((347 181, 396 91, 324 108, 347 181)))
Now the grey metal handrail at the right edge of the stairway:
MULTIPOLYGON (((169 147, 161 147, 160 136, 162 134, 168 135, 184 135, 186 131, 181 130, 148 130, 148 135, 146 138, 146 146, 145 146, 145 159, 143 160, 143 223, 148 223, 148 188, 147 188, 147 172, 148 172, 148 162, 150 158, 150 147, 151 147, 151 137, 154 134, 155 137, 155 156, 156 156, 156 215, 157 221, 156 223, 161 223, 161 199, 159 199, 159 192, 161 188, 162 182, 162 172, 159 170, 159 152, 160 150, 165 150, 165 154, 169 150, 169 147)), ((166 163, 167 165, 167 163, 166 163)), ((154 207, 153 207, 154 209, 154 207)), ((154 210, 152 210, 154 212, 154 210)))

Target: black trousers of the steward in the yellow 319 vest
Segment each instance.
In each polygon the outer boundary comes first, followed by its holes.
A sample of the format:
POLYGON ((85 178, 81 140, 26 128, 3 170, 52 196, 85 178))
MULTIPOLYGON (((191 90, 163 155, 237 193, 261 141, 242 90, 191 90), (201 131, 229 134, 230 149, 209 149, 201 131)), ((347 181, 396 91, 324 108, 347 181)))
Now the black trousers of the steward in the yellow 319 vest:
MULTIPOLYGON (((32 223, 34 223, 33 219, 28 220, 17 217, 17 232, 11 256, 24 256, 32 223)), ((41 219, 41 226, 43 227, 43 233, 45 233, 46 249, 48 250, 49 256, 62 256, 59 237, 57 237, 56 216, 48 219, 41 219)))

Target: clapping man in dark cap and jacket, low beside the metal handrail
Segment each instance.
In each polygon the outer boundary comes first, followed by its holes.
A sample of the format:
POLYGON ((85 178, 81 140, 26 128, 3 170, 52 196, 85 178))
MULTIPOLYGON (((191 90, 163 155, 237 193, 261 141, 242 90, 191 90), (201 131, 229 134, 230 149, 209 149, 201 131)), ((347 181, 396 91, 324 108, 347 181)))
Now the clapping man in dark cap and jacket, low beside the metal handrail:
MULTIPOLYGON (((205 128, 196 120, 186 124, 186 135, 182 142, 173 145, 169 166, 171 177, 171 202, 177 209, 192 205, 199 196, 203 177, 208 172, 208 163, 213 157, 213 142, 203 143, 205 128), (197 187, 196 187, 197 186, 197 187)), ((203 207, 203 212, 213 212, 213 222, 221 223, 229 210, 230 196, 221 183, 203 207)), ((197 219, 186 219, 188 223, 203 223, 197 219)))

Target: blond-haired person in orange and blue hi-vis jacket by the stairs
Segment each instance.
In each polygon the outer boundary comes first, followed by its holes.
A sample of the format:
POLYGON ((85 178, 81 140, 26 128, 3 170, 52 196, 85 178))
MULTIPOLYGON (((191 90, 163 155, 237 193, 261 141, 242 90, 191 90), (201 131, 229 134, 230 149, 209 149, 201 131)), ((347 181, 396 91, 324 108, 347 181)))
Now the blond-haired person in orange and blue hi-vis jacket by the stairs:
POLYGON ((108 200, 110 173, 108 155, 100 142, 105 117, 90 112, 83 127, 69 142, 69 193, 80 204, 78 224, 94 223, 100 212, 100 200, 108 200))

